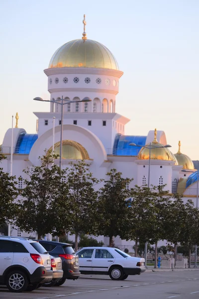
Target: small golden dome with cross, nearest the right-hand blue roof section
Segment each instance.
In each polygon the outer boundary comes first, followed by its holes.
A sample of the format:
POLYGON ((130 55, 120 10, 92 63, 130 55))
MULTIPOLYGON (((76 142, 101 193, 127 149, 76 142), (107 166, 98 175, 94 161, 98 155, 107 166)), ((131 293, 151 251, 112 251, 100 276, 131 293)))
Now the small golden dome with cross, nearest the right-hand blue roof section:
MULTIPOLYGON (((157 142, 156 139, 157 130, 154 131, 154 141, 151 143, 151 159, 153 160, 165 160, 165 161, 175 161, 175 165, 178 165, 178 162, 174 154, 168 149, 164 148, 163 145, 157 142)), ((150 144, 146 145, 150 147, 150 144)), ((138 159, 148 160, 149 159, 149 148, 141 148, 138 154, 138 159)))

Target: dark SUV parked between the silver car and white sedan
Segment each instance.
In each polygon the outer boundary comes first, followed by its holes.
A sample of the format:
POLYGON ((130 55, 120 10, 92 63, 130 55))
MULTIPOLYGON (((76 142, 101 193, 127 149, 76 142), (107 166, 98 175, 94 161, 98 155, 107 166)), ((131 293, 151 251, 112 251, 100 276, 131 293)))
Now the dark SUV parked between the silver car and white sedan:
POLYGON ((71 244, 45 240, 36 241, 38 241, 51 256, 60 257, 62 259, 63 278, 57 282, 55 286, 63 285, 66 279, 76 280, 80 277, 79 257, 75 254, 71 244))

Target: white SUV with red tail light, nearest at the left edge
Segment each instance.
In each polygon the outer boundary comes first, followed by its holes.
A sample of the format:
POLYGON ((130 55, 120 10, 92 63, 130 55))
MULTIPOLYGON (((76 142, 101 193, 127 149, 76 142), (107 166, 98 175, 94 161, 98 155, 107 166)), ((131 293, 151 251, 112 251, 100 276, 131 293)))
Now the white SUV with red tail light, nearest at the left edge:
POLYGON ((0 284, 11 292, 33 291, 51 281, 51 258, 41 244, 0 236, 0 284))

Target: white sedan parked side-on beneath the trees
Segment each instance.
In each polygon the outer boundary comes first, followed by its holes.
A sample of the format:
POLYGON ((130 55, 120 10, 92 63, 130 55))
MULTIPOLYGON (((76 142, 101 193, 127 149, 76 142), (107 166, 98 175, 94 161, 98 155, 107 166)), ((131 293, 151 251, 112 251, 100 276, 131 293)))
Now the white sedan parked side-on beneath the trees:
POLYGON ((112 280, 124 280, 146 270, 145 259, 131 257, 117 248, 84 247, 76 254, 81 274, 105 274, 112 280))

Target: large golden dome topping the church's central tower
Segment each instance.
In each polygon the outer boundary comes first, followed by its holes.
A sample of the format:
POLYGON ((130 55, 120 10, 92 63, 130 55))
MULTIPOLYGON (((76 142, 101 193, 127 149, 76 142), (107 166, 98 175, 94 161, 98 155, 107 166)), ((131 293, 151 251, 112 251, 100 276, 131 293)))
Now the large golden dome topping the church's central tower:
POLYGON ((104 45, 86 38, 62 45, 50 60, 49 68, 54 67, 119 69, 113 54, 104 45))

